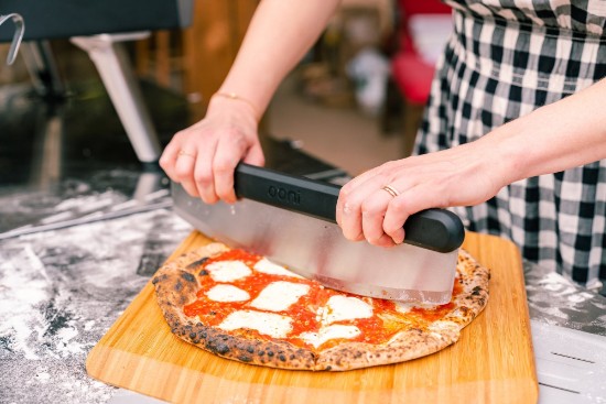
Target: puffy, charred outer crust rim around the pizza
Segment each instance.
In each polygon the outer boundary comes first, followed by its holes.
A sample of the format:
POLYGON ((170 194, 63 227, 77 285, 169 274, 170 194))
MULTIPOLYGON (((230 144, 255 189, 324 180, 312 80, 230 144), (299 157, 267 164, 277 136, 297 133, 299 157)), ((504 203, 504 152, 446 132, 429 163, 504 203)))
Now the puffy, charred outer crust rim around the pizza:
POLYGON ((346 341, 325 350, 305 349, 280 339, 260 339, 248 329, 225 331, 184 314, 183 307, 197 299, 204 262, 228 250, 224 244, 210 243, 183 254, 164 264, 152 283, 175 336, 219 357, 251 364, 343 371, 420 358, 458 340, 461 330, 484 309, 488 299, 489 271, 461 250, 457 275, 463 291, 453 299, 454 308, 442 319, 429 327, 403 329, 386 343, 346 341))

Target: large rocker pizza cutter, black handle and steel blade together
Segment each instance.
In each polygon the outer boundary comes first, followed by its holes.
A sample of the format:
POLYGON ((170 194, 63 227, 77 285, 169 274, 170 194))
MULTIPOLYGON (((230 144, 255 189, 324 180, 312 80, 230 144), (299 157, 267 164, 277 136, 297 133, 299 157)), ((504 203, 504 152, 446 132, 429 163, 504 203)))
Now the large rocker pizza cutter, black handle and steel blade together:
POLYGON ((195 228, 232 248, 270 258, 327 287, 423 304, 451 301, 461 219, 444 209, 412 215, 400 245, 353 242, 335 221, 340 187, 240 163, 236 204, 207 205, 172 184, 175 211, 195 228))

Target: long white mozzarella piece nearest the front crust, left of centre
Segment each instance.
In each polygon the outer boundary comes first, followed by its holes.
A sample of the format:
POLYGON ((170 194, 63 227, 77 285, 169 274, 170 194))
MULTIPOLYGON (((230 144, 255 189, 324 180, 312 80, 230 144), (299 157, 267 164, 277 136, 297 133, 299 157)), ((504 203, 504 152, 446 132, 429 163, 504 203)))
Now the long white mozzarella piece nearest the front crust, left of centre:
POLYGON ((290 317, 253 310, 234 312, 218 327, 227 331, 249 328, 273 338, 285 338, 292 330, 290 317))

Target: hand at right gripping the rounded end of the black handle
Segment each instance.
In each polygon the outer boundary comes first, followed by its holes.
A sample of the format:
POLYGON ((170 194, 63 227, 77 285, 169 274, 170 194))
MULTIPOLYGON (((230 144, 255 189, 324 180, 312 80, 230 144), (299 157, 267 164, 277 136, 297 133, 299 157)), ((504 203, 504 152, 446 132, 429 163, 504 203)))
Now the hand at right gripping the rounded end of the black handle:
POLYGON ((495 196, 508 179, 480 143, 388 162, 351 179, 342 188, 336 209, 344 236, 382 247, 399 244, 410 215, 495 196))

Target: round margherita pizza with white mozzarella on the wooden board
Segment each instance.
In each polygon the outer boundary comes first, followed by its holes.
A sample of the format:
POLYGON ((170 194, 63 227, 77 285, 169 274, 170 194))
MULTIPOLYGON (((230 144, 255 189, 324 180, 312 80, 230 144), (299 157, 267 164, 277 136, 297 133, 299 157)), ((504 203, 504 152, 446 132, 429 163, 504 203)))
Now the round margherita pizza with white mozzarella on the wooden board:
POLYGON ((454 343, 486 306, 488 280, 459 250, 451 302, 413 305, 334 291, 213 242, 165 263, 152 283, 172 332, 196 347, 271 368, 345 371, 454 343))

